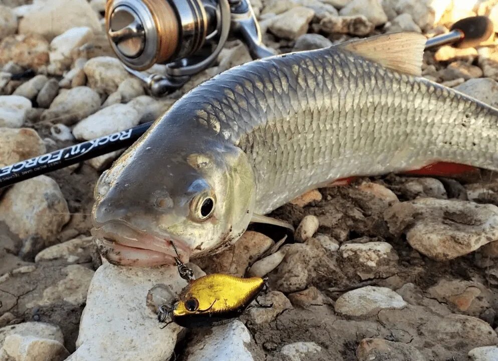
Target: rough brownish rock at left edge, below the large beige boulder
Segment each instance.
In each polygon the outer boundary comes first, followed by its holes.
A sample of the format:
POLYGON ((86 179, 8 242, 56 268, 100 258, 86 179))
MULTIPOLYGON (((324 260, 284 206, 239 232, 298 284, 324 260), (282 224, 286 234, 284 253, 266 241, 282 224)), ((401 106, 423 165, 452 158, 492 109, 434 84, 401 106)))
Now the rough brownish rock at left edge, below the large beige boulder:
POLYGON ((14 62, 38 71, 49 63, 49 43, 37 34, 12 35, 0 42, 0 64, 14 62))

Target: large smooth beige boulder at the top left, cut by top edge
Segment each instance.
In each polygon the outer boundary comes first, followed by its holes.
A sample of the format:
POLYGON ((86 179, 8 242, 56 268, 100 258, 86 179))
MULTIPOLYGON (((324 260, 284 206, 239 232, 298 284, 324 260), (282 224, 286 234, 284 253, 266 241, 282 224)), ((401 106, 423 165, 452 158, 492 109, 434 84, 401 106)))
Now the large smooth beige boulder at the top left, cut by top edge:
POLYGON ((20 34, 40 34, 47 39, 75 27, 102 32, 99 18, 86 0, 45 0, 28 9, 19 23, 20 34))

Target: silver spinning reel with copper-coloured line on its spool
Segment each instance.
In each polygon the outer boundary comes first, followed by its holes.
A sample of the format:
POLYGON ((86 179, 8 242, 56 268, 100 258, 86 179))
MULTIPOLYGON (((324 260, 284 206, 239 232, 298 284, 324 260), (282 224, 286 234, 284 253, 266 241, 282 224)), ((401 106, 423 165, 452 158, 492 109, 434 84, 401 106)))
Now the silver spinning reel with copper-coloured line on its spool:
POLYGON ((229 35, 238 36, 253 59, 275 55, 261 42, 248 0, 108 0, 105 20, 112 49, 154 96, 208 68, 229 35), (166 64, 166 75, 140 72, 154 64, 166 64))

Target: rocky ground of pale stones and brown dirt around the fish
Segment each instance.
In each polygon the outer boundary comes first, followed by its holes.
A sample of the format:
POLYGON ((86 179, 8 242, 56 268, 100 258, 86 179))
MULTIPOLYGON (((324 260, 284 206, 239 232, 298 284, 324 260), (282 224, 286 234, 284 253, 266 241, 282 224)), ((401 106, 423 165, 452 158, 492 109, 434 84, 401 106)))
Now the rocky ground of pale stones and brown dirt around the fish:
MULTIPOLYGON (((280 53, 385 32, 430 37, 475 14, 498 21, 497 4, 253 2, 265 44, 280 53)), ((187 90, 250 61, 246 47, 230 41, 214 67, 154 99, 113 57, 104 6, 0 6, 0 170, 153 120, 187 90)), ((495 44, 493 36, 478 49, 426 52, 423 75, 498 106, 495 44)), ((0 360, 60 361, 77 346, 70 359, 166 360, 174 349, 188 361, 498 360, 493 174, 386 175, 314 190, 273 213, 297 227, 285 242, 281 229, 252 226, 232 248, 195 260, 208 273, 268 275, 260 302, 273 307, 212 329, 162 330, 145 295, 164 280, 181 289, 175 269, 101 266, 89 237, 93 186, 118 154, 0 190, 0 360)))

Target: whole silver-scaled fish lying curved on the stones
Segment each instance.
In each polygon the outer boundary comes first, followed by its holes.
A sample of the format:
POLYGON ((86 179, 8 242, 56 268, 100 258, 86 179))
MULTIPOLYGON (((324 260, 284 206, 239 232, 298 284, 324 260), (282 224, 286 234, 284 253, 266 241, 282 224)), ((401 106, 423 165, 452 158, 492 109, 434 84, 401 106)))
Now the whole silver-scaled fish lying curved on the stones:
POLYGON ((498 110, 421 77, 425 37, 380 35, 253 61, 186 93, 105 171, 92 233, 112 263, 213 254, 338 179, 498 170, 498 110))

